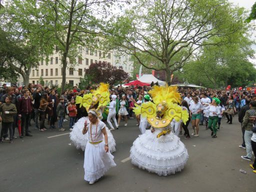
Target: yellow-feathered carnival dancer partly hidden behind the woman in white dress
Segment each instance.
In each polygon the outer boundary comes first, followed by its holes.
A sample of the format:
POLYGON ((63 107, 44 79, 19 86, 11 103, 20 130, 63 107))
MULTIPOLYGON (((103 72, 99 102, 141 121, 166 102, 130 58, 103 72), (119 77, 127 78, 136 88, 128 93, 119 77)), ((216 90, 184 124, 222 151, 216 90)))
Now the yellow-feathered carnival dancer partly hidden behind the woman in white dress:
MULTIPOLYGON (((109 102, 109 91, 108 84, 100 83, 99 87, 91 93, 84 94, 83 97, 76 96, 75 103, 80 104, 79 106, 84 106, 87 111, 95 109, 97 112, 98 119, 102 119, 102 111, 104 107, 109 102)), ((70 140, 75 145, 75 147, 85 149, 88 134, 82 134, 82 129, 84 127, 84 122, 88 120, 88 117, 80 118, 72 128, 69 134, 70 140)), ((115 151, 115 140, 111 131, 106 127, 106 132, 108 136, 108 146, 109 151, 112 153, 115 151)))

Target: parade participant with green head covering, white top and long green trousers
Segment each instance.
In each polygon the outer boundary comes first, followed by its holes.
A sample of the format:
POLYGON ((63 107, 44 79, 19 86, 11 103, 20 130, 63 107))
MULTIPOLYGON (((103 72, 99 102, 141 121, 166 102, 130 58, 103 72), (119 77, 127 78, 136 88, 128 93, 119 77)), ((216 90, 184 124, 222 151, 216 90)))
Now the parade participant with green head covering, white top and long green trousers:
POLYGON ((218 98, 213 98, 209 107, 209 121, 208 121, 208 128, 211 130, 211 137, 217 137, 217 130, 216 124, 218 121, 218 115, 220 114, 220 110, 218 104, 220 100, 218 98))

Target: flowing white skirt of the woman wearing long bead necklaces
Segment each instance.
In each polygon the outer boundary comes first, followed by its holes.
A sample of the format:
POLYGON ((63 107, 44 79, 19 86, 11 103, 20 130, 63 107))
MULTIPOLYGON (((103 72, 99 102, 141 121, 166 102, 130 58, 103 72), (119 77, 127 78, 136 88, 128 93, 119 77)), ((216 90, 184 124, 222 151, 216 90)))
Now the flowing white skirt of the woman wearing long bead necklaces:
POLYGON ((104 142, 91 144, 87 142, 84 151, 84 180, 94 181, 99 179, 112 166, 116 166, 114 156, 105 152, 104 142))

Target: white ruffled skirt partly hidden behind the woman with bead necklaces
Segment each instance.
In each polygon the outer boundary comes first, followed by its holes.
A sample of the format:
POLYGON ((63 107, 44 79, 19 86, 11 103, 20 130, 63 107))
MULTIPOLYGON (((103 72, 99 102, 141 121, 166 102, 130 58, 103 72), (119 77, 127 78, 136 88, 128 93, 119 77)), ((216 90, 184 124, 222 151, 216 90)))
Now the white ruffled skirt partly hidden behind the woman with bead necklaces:
MULTIPOLYGON (((86 134, 82 134, 82 129, 84 127, 84 122, 85 120, 89 120, 88 117, 82 117, 80 118, 74 125, 72 128, 72 131, 69 134, 70 140, 72 141, 72 143, 74 144, 74 146, 77 149, 85 149, 85 146, 87 144, 88 141, 88 132, 86 134)), ((111 133, 111 131, 107 128, 106 126, 106 132, 107 132, 107 139, 108 139, 108 147, 109 147, 109 151, 115 152, 115 140, 114 137, 111 133)))

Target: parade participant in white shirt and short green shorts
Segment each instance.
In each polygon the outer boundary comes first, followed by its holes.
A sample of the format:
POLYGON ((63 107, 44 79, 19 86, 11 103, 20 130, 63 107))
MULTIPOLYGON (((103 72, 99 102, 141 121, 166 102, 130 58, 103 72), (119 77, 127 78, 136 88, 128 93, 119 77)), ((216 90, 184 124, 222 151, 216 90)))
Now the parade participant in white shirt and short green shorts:
POLYGON ((200 112, 203 109, 202 104, 198 102, 198 97, 195 96, 193 98, 193 102, 190 103, 189 110, 190 110, 190 117, 192 119, 192 128, 193 133, 191 135, 193 136, 199 136, 199 121, 200 121, 200 112))

